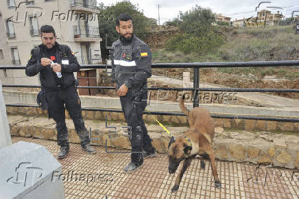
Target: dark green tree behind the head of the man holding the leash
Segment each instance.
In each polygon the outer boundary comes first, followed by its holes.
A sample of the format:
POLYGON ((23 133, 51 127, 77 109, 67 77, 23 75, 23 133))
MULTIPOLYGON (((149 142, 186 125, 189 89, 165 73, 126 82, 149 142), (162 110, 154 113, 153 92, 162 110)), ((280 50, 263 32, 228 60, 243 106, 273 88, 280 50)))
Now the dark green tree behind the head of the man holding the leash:
POLYGON ((129 14, 132 16, 134 34, 142 40, 147 36, 147 27, 152 25, 152 21, 143 15, 138 5, 133 5, 130 1, 121 1, 111 6, 104 6, 103 3, 100 3, 99 11, 99 36, 103 39, 101 44, 101 56, 103 60, 109 57, 109 51, 106 49, 106 34, 108 46, 111 46, 119 38, 119 34, 115 30, 115 20, 119 14, 129 14))

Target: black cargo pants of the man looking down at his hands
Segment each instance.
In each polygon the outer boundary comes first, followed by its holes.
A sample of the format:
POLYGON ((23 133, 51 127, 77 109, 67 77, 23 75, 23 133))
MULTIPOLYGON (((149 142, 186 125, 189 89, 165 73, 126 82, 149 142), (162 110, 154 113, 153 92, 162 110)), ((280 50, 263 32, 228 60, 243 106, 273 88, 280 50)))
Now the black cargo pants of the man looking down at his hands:
POLYGON ((77 88, 73 85, 60 91, 45 91, 46 100, 49 104, 49 117, 56 121, 57 143, 60 146, 69 146, 67 126, 65 124, 65 108, 69 112, 81 145, 90 142, 88 131, 84 126, 82 117, 81 101, 77 94, 77 88), (65 106, 64 106, 65 104, 65 106))

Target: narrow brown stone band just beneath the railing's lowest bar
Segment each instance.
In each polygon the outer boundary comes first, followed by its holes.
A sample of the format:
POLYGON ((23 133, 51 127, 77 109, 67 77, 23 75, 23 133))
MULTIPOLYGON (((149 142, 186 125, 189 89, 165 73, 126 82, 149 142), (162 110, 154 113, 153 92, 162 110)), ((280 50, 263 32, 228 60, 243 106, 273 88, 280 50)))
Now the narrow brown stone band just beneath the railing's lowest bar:
MULTIPOLYGON (((31 107, 6 107, 8 115, 47 115, 47 111, 43 111, 40 108, 31 107)), ((106 115, 108 121, 125 122, 123 113, 116 112, 101 112, 101 111, 82 111, 84 119, 96 119, 105 121, 106 115)), ((66 110, 66 117, 69 114, 66 110)), ((165 125, 171 126, 188 126, 186 116, 174 116, 174 115, 155 115, 158 121, 165 125)), ((152 115, 143 115, 145 123, 156 123, 152 115)), ((253 120, 253 119, 215 119, 215 126, 221 128, 232 128, 236 130, 256 130, 256 131, 281 131, 281 132, 299 132, 299 123, 283 122, 283 121, 265 121, 265 120, 253 120)))

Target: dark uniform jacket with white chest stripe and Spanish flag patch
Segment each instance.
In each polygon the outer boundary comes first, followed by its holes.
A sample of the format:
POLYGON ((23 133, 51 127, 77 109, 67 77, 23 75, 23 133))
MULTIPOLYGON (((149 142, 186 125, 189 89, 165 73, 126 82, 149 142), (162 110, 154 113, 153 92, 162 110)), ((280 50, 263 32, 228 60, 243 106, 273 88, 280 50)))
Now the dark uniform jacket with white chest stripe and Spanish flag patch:
POLYGON ((147 78, 152 76, 152 52, 142 40, 132 35, 130 43, 119 39, 112 44, 112 82, 117 89, 123 84, 128 87, 126 95, 147 91, 147 78))

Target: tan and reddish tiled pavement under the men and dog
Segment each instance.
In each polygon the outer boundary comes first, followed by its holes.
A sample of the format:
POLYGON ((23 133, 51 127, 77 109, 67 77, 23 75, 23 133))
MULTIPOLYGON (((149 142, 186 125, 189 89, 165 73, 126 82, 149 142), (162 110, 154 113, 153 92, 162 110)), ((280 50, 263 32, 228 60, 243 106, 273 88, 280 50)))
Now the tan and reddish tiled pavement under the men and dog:
MULTIPOLYGON (((13 142, 21 140, 45 145, 55 157, 59 150, 56 141, 12 137, 13 142)), ((126 174, 123 167, 129 162, 130 154, 106 153, 103 147, 95 148, 97 154, 86 154, 79 144, 71 143, 69 155, 60 160, 64 174, 61 180, 64 181, 66 198, 298 198, 299 196, 299 170, 216 160, 217 172, 222 182, 222 189, 219 190, 214 187, 210 162, 205 160, 206 168, 200 169, 199 159, 191 162, 182 178, 180 188, 175 194, 171 194, 170 190, 178 171, 176 174, 168 173, 166 154, 145 159, 141 169, 126 174)), ((108 148, 108 151, 117 150, 108 148)))

